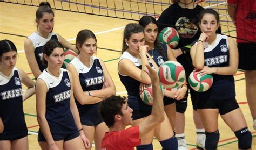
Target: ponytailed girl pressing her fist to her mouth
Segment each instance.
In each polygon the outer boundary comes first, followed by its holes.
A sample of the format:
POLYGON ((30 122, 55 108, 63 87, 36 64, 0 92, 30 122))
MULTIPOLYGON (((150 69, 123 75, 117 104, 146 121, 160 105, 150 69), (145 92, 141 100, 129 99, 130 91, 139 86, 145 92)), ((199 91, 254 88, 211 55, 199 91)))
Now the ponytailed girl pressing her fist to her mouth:
MULTIPOLYGON (((149 46, 144 45, 144 28, 139 24, 128 24, 124 29, 122 56, 118 62, 118 75, 128 94, 128 104, 133 109, 132 126, 141 123, 151 114, 152 106, 143 103, 139 91, 146 84, 151 84, 149 75, 142 70, 147 70, 146 65, 158 69, 158 66, 147 53, 149 46)), ((177 149, 177 139, 174 137, 169 119, 157 125, 154 130, 145 135, 137 149, 153 149, 152 141, 155 136, 163 149, 177 149)))

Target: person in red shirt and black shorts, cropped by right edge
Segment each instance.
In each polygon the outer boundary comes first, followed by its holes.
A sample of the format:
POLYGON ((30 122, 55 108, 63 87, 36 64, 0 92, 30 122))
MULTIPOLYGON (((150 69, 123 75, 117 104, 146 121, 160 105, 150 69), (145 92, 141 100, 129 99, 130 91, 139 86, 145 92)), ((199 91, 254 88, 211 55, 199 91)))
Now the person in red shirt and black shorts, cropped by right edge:
POLYGON ((239 69, 245 73, 246 97, 256 130, 256 1, 227 0, 228 14, 237 27, 239 69))

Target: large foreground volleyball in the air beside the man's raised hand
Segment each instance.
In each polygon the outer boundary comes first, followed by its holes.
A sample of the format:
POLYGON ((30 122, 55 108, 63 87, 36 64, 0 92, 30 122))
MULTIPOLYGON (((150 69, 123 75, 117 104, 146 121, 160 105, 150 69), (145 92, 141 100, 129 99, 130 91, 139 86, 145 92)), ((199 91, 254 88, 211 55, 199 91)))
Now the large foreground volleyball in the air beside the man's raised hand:
POLYGON ((177 61, 166 61, 158 70, 160 84, 165 88, 177 88, 186 80, 185 70, 177 61))

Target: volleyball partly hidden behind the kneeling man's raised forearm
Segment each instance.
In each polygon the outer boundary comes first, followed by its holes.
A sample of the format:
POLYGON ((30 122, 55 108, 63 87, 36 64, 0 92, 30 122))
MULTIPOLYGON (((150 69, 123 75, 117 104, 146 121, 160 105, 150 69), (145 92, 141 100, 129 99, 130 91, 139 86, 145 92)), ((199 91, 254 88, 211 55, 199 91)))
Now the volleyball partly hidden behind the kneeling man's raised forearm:
MULTIPOLYGON (((164 89, 161 85, 160 89, 161 89, 161 94, 164 95, 164 89)), ((139 91, 139 96, 142 99, 142 101, 147 104, 147 105, 153 105, 153 90, 152 90, 152 86, 147 87, 146 89, 144 89, 143 91, 139 91)))

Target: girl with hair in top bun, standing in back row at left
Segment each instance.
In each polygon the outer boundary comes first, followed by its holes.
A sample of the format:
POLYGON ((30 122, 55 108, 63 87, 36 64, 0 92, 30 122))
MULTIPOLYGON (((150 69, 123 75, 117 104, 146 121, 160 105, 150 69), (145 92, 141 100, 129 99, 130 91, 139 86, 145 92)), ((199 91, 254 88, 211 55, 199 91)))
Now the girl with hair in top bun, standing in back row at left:
POLYGON ((36 11, 37 31, 33 32, 24 44, 26 59, 30 69, 37 78, 46 68, 42 64, 43 52, 42 48, 49 40, 58 40, 65 48, 77 51, 68 41, 61 35, 52 32, 54 26, 54 12, 48 2, 41 2, 36 11))

